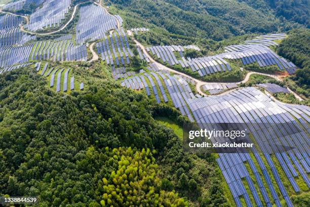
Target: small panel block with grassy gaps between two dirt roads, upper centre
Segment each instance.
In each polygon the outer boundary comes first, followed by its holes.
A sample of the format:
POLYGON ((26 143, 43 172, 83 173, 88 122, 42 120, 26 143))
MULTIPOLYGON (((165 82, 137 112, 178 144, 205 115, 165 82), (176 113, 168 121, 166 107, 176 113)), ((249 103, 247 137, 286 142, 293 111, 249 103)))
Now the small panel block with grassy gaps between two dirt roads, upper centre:
POLYGON ((110 65, 130 64, 130 57, 134 56, 123 28, 105 36, 103 41, 96 43, 96 48, 102 60, 110 65))

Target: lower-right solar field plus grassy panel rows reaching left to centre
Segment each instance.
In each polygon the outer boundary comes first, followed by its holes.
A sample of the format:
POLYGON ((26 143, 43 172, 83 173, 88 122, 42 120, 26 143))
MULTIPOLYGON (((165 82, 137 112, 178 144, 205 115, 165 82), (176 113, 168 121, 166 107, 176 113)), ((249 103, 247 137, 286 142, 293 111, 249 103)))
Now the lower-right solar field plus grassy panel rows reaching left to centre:
MULTIPOLYGON (((310 120, 309 107, 274 102, 254 87, 238 89, 216 97, 199 96, 200 98, 196 98, 191 93, 188 84, 184 83, 186 82, 184 79, 179 77, 177 80, 174 76, 161 72, 144 73, 140 75, 140 79, 136 77, 125 79, 122 85, 139 90, 142 89, 139 87, 142 83, 148 96, 153 93, 155 97, 163 97, 157 90, 151 92, 148 83, 154 86, 156 82, 149 80, 146 83, 145 77, 147 79, 154 77, 155 80, 158 80, 157 87, 162 88, 161 91, 165 93, 165 89, 161 85, 163 81, 174 106, 183 115, 187 115, 191 121, 196 120, 201 128, 208 126, 205 123, 211 123, 211 126, 216 123, 245 123, 247 129, 251 131, 258 144, 256 147, 259 148, 252 148, 253 158, 244 151, 242 153, 220 153, 217 159, 237 206, 242 206, 240 196, 245 199, 247 206, 273 206, 273 204, 282 206, 280 202, 282 199, 288 206, 293 206, 284 186, 284 179, 290 183, 296 193, 300 192, 300 186, 295 180, 297 177, 300 177, 305 186, 310 187, 307 177, 310 172, 308 153, 310 141, 307 136, 310 120), (190 118, 192 115, 195 119, 190 118), (257 124, 260 124, 259 127, 257 124), (281 146, 292 148, 285 151, 281 146), (274 148, 279 151, 272 151, 274 148), (262 154, 258 151, 262 151, 262 154), (275 159, 272 159, 270 154, 275 154, 275 159), (251 172, 248 171, 244 162, 249 163, 251 172), (255 162, 258 165, 254 164, 255 162), (286 178, 280 176, 282 174, 279 174, 276 165, 282 168, 286 178), (254 177, 250 177, 250 173, 254 177), (265 186, 263 182, 267 185, 265 186), (245 185, 248 186, 245 187, 245 185), (280 189, 280 195, 277 194, 275 185, 280 189), (271 197, 267 191, 270 192, 271 197), (251 201, 250 196, 254 198, 255 203, 251 201)), ((212 130, 213 128, 207 129, 212 130)), ((215 142, 214 139, 211 140, 215 142)), ((218 142, 218 140, 216 141, 218 142)))

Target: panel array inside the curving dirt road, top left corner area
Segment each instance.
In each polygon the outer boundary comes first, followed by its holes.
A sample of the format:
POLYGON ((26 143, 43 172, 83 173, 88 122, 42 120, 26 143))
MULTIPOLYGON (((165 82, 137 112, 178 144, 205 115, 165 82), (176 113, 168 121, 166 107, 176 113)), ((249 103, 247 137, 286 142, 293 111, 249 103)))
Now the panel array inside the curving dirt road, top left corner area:
POLYGON ((30 15, 30 23, 24 27, 30 31, 59 27, 70 5, 71 0, 46 0, 30 15))

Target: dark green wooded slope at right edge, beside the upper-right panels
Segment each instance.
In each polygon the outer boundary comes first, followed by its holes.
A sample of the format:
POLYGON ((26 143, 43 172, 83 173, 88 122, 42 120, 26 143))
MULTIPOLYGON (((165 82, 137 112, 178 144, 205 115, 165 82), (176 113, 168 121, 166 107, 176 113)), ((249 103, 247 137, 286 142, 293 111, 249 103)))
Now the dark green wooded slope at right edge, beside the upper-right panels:
POLYGON ((278 53, 300 67, 290 79, 299 88, 296 91, 308 97, 310 95, 310 29, 296 29, 288 33, 278 47, 278 53))

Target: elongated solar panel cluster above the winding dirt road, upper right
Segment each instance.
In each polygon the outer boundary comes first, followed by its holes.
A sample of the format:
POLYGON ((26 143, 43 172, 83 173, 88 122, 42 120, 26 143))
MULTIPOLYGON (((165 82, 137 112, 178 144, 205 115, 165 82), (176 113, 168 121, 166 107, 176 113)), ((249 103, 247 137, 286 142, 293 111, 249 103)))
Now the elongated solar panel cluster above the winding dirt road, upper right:
POLYGON ((293 74, 296 65, 288 62, 285 58, 278 56, 269 46, 277 46, 275 40, 282 40, 285 34, 269 34, 259 36, 254 40, 246 41, 244 45, 232 45, 225 47, 225 52, 206 57, 190 58, 184 57, 185 49, 200 51, 197 46, 152 46, 146 50, 153 57, 160 59, 168 65, 181 65, 182 68, 190 68, 192 72, 198 73, 200 77, 214 73, 229 72, 231 66, 228 60, 241 60, 244 65, 258 63, 260 67, 276 65, 281 71, 293 74), (177 59, 174 52, 179 53, 181 58, 177 59))

